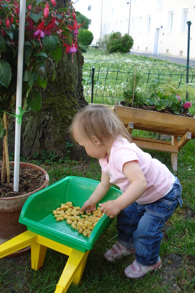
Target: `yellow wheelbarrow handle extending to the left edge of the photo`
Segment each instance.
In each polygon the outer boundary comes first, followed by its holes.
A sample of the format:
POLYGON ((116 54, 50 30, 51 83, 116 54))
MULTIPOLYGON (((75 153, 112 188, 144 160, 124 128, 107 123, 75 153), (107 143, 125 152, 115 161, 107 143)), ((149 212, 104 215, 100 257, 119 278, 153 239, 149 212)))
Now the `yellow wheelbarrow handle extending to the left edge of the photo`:
POLYGON ((30 246, 32 243, 36 242, 36 239, 37 234, 30 231, 25 231, 15 236, 14 238, 0 245, 0 258, 30 246))

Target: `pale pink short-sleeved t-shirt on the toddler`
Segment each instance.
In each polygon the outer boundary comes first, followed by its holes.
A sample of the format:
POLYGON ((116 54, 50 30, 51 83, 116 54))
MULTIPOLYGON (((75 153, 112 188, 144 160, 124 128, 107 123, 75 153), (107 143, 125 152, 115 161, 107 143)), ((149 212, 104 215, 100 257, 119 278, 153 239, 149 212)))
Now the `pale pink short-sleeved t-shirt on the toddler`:
POLYGON ((99 164, 102 172, 110 177, 110 183, 117 185, 124 192, 131 182, 125 177, 122 169, 124 163, 132 160, 138 162, 147 181, 146 191, 136 202, 147 204, 163 197, 173 183, 173 174, 166 165, 126 139, 115 140, 111 147, 109 162, 106 156, 99 160, 99 164))

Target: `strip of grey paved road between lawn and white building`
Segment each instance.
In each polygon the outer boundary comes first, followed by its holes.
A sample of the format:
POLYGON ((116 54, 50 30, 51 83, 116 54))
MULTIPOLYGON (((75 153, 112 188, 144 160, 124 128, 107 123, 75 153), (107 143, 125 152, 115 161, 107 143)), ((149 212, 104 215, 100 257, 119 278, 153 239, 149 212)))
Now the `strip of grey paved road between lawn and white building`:
MULTIPOLYGON (((172 56, 167 56, 167 55, 154 55, 151 53, 132 52, 132 51, 130 52, 130 54, 143 55, 143 56, 147 56, 147 57, 167 60, 170 62, 176 62, 176 63, 182 64, 182 65, 187 65, 187 58, 183 58, 183 57, 172 57, 172 56)), ((190 59, 189 66, 195 66, 195 60, 190 59)))

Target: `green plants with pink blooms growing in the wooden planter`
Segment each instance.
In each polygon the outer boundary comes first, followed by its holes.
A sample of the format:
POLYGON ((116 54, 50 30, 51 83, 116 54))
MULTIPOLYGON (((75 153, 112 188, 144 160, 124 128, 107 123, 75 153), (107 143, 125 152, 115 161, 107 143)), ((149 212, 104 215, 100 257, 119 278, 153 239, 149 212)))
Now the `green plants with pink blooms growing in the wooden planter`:
POLYGON ((159 81, 154 79, 143 92, 141 83, 140 73, 135 73, 135 76, 129 78, 127 89, 123 92, 122 105, 187 117, 194 116, 194 113, 189 113, 192 103, 186 101, 186 93, 190 95, 194 92, 191 84, 183 85, 179 89, 172 83, 160 87, 159 81))

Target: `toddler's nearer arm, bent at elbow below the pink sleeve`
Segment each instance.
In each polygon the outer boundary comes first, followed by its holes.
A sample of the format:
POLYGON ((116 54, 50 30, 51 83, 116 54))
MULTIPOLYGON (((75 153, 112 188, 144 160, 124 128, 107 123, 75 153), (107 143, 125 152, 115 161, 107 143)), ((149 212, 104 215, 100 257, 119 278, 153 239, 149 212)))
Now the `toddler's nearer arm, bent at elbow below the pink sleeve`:
POLYGON ((121 210, 136 201, 147 188, 145 176, 136 161, 126 162, 123 166, 123 174, 130 182, 125 192, 115 200, 99 204, 100 211, 110 218, 114 218, 121 210))

